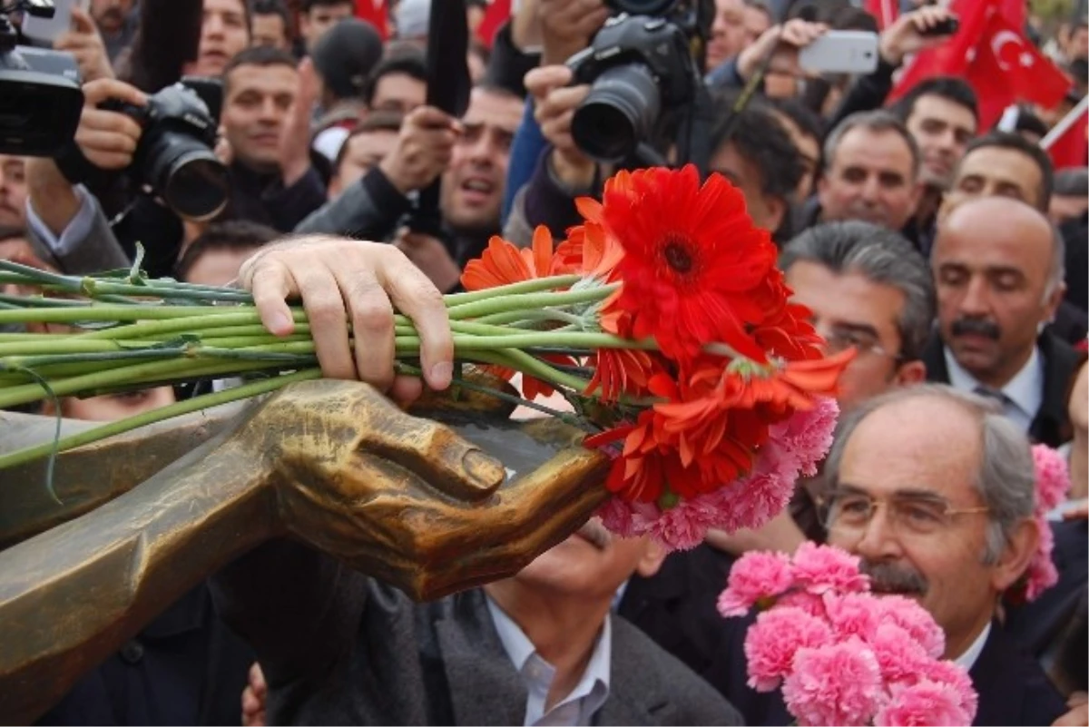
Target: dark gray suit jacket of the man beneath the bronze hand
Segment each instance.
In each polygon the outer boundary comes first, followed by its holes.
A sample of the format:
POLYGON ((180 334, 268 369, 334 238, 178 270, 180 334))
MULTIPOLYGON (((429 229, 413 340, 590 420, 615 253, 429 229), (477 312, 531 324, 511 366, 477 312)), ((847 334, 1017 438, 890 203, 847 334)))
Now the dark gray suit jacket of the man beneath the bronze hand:
MULTIPOLYGON (((527 691, 484 592, 415 604, 294 543, 221 574, 224 617, 258 653, 269 726, 522 727, 527 691), (276 597, 272 597, 276 594, 276 597)), ((730 704, 616 618, 600 727, 739 726, 730 704)))

